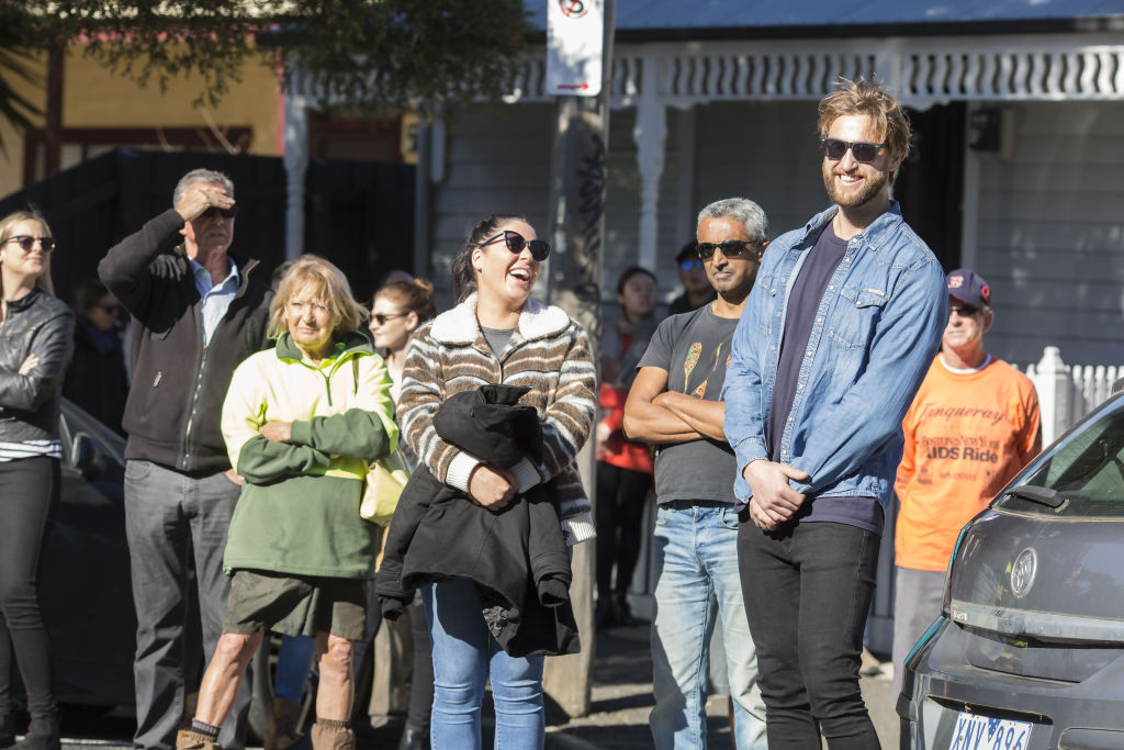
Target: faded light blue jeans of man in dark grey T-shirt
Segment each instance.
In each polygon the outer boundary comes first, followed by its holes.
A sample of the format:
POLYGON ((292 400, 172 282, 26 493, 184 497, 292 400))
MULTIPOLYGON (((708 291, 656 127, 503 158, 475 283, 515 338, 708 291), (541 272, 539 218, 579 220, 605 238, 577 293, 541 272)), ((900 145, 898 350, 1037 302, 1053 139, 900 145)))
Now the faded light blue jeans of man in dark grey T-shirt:
POLYGON ((718 612, 734 698, 734 740, 738 750, 765 747, 765 708, 738 578, 737 526, 728 503, 679 500, 661 504, 656 512, 655 707, 649 722, 659 750, 706 747, 710 635, 718 612))

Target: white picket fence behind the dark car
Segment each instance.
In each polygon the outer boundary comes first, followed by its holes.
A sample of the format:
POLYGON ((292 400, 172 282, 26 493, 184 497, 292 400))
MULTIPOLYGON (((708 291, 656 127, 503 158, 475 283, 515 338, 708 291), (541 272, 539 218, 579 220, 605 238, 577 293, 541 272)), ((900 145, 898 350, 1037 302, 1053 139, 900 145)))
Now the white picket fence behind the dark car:
POLYGON ((1023 371, 1039 392, 1043 446, 1107 400, 1113 383, 1124 378, 1124 365, 1066 364, 1057 346, 1046 346, 1037 364, 1023 371))

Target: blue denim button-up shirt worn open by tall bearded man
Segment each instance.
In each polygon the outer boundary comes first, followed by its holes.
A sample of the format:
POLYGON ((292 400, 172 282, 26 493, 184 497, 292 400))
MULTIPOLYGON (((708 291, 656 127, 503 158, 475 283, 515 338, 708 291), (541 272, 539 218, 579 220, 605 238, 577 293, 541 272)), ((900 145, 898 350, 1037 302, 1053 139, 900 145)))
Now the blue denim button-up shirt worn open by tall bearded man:
MULTIPOLYGON (((725 432, 742 470, 769 459, 765 431, 791 284, 836 207, 765 251, 734 332, 726 371, 725 432)), ((781 435, 780 460, 809 475, 798 493, 874 497, 885 508, 901 460, 901 419, 949 322, 944 271, 896 201, 851 237, 816 310, 781 435)))

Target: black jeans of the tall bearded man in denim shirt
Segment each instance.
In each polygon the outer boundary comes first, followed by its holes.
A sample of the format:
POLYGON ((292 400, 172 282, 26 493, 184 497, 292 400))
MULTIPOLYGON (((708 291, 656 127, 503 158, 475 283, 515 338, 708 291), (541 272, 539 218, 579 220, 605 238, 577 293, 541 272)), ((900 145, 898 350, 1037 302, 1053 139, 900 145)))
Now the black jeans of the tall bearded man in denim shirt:
POLYGON ((859 690, 881 537, 813 522, 738 528, 737 561, 770 750, 878 748, 859 690))

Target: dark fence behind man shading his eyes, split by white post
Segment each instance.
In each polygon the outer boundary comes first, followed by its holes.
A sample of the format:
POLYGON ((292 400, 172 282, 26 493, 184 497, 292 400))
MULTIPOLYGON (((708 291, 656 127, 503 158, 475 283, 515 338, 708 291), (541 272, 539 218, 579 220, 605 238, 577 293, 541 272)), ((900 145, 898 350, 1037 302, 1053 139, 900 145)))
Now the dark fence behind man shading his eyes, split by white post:
MULTIPOLYGON (((0 218, 37 208, 58 240, 55 293, 97 275, 106 251, 172 206, 175 183, 193 169, 225 172, 235 184, 233 249, 272 273, 285 254, 285 172, 277 156, 166 153, 118 148, 0 199, 0 218)), ((306 242, 337 263, 369 301, 396 268, 413 271, 414 173, 404 164, 315 160, 306 181, 306 242)))

